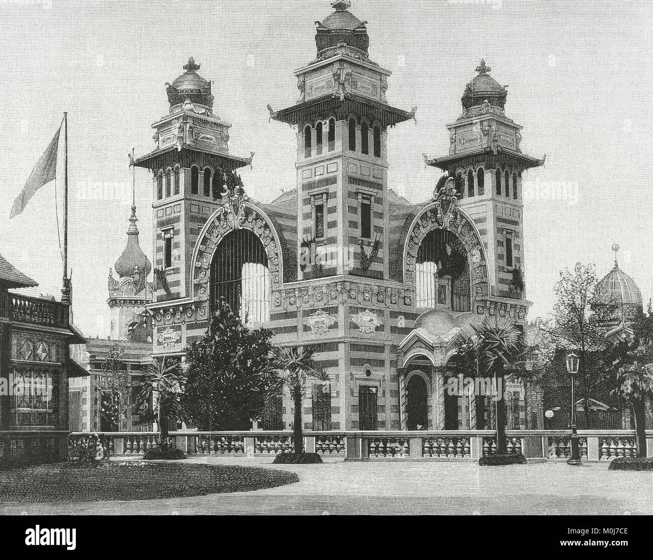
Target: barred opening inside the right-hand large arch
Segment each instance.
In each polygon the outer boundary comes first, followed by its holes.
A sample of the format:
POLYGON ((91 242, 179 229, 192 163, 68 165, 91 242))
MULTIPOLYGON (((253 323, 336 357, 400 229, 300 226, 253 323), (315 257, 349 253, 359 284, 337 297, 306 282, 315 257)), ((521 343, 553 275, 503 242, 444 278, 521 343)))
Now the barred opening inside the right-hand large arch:
POLYGON ((449 230, 426 234, 415 262, 417 307, 470 311, 471 282, 468 252, 449 230))

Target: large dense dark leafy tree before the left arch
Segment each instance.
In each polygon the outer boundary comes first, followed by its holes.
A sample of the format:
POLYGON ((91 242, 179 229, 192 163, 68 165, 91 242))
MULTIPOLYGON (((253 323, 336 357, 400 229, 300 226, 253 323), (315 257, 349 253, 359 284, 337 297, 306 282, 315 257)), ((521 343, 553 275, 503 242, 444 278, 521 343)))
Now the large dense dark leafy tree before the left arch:
POLYGON ((202 430, 249 429, 278 386, 267 329, 249 330, 220 302, 202 339, 186 349, 186 422, 202 430))

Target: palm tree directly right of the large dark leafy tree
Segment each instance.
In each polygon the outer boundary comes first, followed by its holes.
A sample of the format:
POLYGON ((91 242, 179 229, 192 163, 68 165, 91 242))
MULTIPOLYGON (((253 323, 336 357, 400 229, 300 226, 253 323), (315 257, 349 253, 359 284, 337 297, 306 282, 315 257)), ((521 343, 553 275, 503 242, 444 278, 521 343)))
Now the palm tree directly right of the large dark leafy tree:
POLYGON ((307 346, 275 347, 273 351, 273 369, 279 377, 279 384, 290 389, 295 403, 293 441, 295 442, 295 453, 300 454, 304 452, 302 397, 306 390, 306 384, 310 379, 328 381, 328 374, 315 364, 313 355, 316 350, 314 348, 307 346))

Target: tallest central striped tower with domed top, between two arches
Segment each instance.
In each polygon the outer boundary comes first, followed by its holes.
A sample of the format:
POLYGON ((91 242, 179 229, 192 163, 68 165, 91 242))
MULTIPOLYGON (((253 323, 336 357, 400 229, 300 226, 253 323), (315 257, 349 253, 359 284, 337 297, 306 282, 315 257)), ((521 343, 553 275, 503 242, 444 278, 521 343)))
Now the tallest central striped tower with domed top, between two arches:
POLYGON ((386 139, 414 117, 385 97, 390 71, 368 56, 366 22, 347 8, 316 22, 317 58, 295 71, 300 97, 271 117, 297 127, 297 277, 388 278, 386 139))

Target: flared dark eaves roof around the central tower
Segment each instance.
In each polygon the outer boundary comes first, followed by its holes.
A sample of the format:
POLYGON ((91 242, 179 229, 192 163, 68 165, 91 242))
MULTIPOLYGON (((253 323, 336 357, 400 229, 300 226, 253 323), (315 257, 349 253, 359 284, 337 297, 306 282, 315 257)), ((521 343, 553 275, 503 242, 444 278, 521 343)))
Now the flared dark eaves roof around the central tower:
POLYGON ((335 113, 338 120, 346 119, 347 116, 353 113, 368 116, 371 120, 378 119, 384 126, 394 127, 394 125, 415 118, 415 110, 416 108, 411 111, 404 111, 386 103, 347 92, 343 101, 340 101, 338 96, 318 97, 280 111, 270 110, 270 117, 282 123, 296 125, 311 121, 316 113, 335 113))

